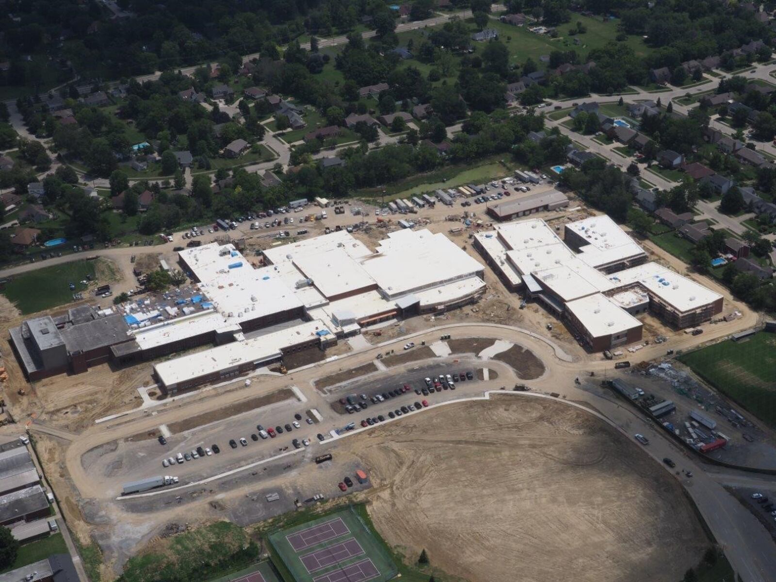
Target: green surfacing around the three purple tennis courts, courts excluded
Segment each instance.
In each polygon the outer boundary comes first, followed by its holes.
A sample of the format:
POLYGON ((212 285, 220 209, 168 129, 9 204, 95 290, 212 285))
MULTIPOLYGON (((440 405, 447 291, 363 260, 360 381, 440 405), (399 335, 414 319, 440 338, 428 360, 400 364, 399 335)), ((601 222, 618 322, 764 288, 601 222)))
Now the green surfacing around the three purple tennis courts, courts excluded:
POLYGON ((352 507, 325 514, 302 524, 275 530, 275 532, 268 535, 268 541, 274 552, 273 557, 276 557, 279 561, 279 563, 275 563, 278 566, 279 572, 284 577, 286 575, 292 577, 291 580, 286 580, 286 582, 312 582, 314 577, 324 576, 327 573, 346 568, 354 563, 360 563, 365 559, 370 559, 376 570, 379 570, 379 574, 371 578, 374 582, 386 582, 386 580, 390 580, 398 573, 396 564, 393 563, 393 559, 390 553, 386 551, 385 546, 379 541, 379 536, 370 530, 363 518, 352 507), (340 520, 341 523, 345 524, 346 529, 341 530, 341 532, 338 532, 338 535, 334 535, 334 537, 324 541, 312 543, 304 548, 294 549, 291 542, 287 539, 287 536, 302 532, 308 528, 314 528, 330 521, 338 524, 340 520), (340 559, 336 563, 321 566, 312 573, 307 571, 307 566, 302 562, 301 556, 353 538, 359 542, 363 550, 361 555, 340 559))

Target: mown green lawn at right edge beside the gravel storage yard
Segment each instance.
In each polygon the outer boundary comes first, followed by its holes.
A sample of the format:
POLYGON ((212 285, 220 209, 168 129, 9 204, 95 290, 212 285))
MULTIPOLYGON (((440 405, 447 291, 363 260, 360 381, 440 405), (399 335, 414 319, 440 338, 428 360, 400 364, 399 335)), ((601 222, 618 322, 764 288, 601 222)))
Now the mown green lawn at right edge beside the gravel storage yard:
POLYGON ((776 334, 726 340, 679 358, 717 390, 776 427, 776 334))

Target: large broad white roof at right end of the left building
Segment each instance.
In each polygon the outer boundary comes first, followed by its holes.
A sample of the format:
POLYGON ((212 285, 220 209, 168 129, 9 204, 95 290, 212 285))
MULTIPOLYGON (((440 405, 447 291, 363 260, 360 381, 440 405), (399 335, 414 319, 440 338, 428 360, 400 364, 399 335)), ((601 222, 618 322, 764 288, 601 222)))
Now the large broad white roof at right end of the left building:
POLYGON ((362 265, 391 299, 483 271, 483 265, 444 234, 425 228, 390 233, 362 265))

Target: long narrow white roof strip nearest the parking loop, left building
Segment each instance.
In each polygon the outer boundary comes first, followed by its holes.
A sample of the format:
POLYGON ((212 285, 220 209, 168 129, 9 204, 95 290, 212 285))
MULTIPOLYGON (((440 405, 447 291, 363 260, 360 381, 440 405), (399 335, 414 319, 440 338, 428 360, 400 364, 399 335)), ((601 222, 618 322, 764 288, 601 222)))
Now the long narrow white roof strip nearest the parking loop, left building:
POLYGON ((283 348, 313 339, 320 330, 327 330, 323 321, 306 321, 257 338, 233 341, 203 352, 159 362, 154 364, 154 371, 165 386, 175 386, 213 372, 237 369, 248 362, 261 363, 274 359, 279 357, 283 348))

